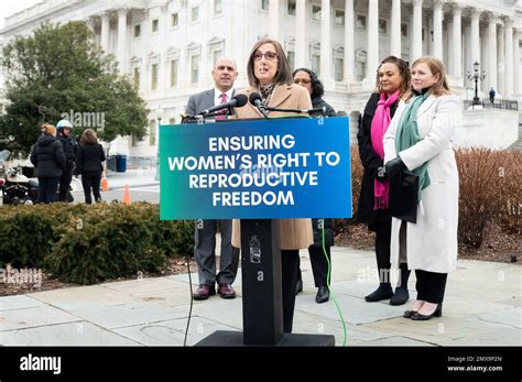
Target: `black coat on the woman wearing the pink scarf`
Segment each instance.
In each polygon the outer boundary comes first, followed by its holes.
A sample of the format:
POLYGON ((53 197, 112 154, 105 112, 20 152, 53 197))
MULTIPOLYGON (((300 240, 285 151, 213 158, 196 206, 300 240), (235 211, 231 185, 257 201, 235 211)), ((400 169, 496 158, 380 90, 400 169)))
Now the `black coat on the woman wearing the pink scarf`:
MULTIPOLYGON (((373 181, 377 177, 378 168, 383 166, 383 160, 373 151, 371 145, 371 121, 376 113, 377 103, 379 102, 379 94, 373 92, 368 100, 357 140, 359 142, 359 156, 365 167, 362 174, 361 193, 359 196, 359 206, 357 211, 357 220, 369 223, 369 229, 379 232, 390 232, 391 216, 388 209, 373 209, 374 187, 373 181)), ((399 100, 390 107, 390 114, 393 118, 399 100)))

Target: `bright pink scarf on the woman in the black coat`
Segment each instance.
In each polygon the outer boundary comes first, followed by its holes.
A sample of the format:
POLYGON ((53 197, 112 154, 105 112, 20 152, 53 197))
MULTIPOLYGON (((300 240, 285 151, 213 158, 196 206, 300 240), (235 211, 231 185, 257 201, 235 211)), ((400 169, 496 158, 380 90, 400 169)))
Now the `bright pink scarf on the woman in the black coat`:
MULTIPOLYGON (((396 90, 388 99, 385 99, 384 91, 381 91, 379 102, 377 103, 376 113, 371 121, 371 145, 373 151, 382 160, 384 159, 384 144, 382 139, 388 130, 391 122, 390 107, 395 103, 399 98, 400 90, 396 90)), ((373 196, 374 205, 373 209, 387 209, 388 208, 388 196, 390 193, 390 182, 385 181, 381 183, 373 179, 373 196)))

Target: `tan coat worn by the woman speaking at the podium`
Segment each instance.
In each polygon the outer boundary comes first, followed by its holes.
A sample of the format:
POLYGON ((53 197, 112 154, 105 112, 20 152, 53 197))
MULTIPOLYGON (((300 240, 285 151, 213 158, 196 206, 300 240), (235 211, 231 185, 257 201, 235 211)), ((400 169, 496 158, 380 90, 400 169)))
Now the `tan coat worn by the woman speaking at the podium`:
MULTIPOLYGON (((247 91, 241 92, 248 97, 251 92, 257 91, 257 89, 249 88, 247 91)), ((274 89, 268 106, 283 109, 312 109, 312 100, 308 90, 301 86, 279 85, 274 89)), ((259 110, 250 103, 247 103, 242 108, 237 108, 235 111, 235 116, 231 117, 233 119, 251 119, 263 117, 259 110)), ((284 116, 284 113, 273 111, 270 113, 270 116, 284 116)), ((306 249, 313 244, 314 236, 312 232, 311 219, 280 219, 280 222, 282 250, 306 249)), ((241 232, 238 219, 232 221, 232 245, 236 248, 241 248, 241 232)))

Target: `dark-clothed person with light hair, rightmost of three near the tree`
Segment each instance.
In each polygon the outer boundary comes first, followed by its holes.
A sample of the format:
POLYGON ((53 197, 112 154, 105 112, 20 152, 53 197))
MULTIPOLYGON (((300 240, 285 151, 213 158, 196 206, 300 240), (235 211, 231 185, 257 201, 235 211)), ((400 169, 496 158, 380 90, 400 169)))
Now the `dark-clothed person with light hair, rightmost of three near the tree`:
POLYGON ((91 193, 95 200, 100 201, 101 172, 105 161, 104 148, 98 143, 98 137, 91 129, 87 129, 81 134, 79 141, 78 155, 76 157, 75 174, 81 174, 81 185, 84 186, 85 203, 91 204, 91 193))

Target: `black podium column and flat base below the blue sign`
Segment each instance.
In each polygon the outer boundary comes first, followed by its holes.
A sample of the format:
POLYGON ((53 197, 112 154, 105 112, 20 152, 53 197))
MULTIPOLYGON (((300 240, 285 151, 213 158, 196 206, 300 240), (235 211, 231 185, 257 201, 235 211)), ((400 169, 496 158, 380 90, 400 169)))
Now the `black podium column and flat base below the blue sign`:
POLYGON ((217 330, 196 346, 335 346, 329 335, 283 334, 279 220, 241 220, 243 331, 217 330))

